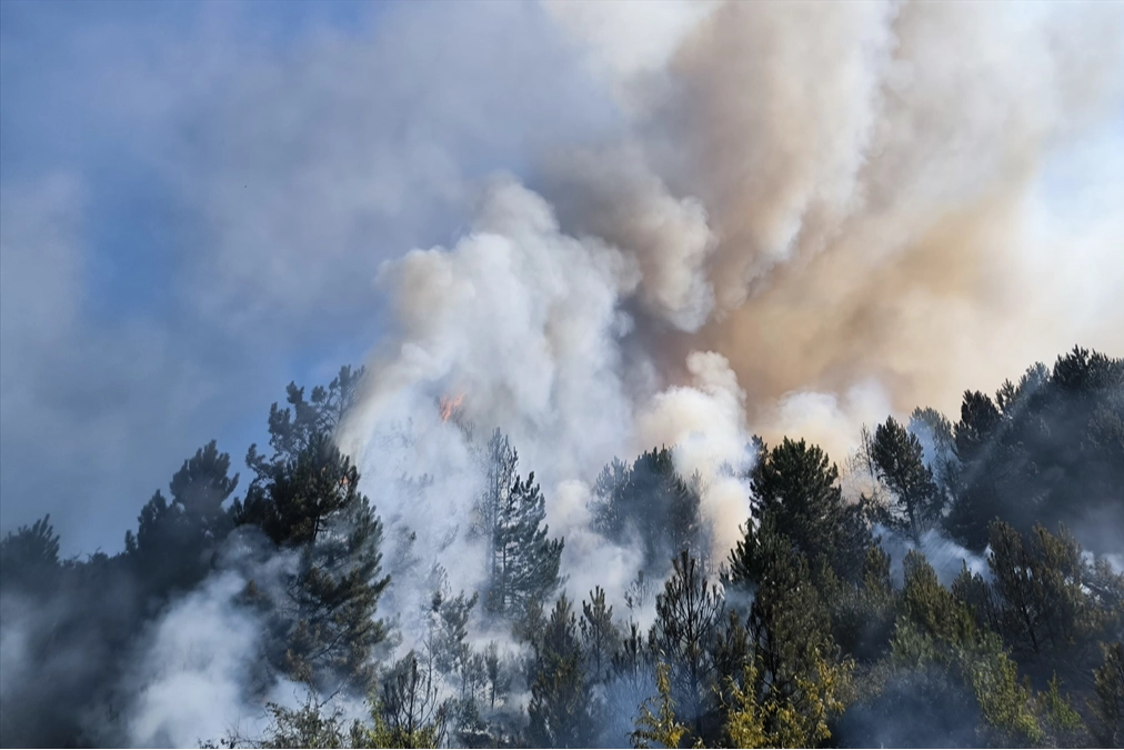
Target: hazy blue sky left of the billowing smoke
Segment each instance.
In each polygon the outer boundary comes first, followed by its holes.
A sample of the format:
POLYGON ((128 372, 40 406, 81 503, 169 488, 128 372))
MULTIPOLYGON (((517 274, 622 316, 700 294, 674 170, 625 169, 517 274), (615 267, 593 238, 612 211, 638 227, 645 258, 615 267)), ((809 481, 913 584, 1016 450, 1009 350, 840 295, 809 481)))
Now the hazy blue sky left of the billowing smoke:
POLYGON ((531 3, 0 13, 0 531, 51 513, 64 553, 211 437, 241 469, 290 379, 378 344, 382 260, 614 120, 531 3))

